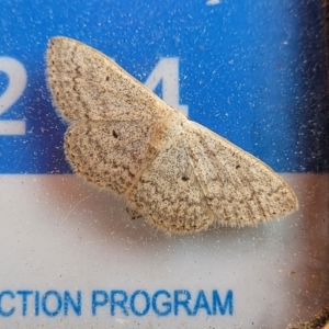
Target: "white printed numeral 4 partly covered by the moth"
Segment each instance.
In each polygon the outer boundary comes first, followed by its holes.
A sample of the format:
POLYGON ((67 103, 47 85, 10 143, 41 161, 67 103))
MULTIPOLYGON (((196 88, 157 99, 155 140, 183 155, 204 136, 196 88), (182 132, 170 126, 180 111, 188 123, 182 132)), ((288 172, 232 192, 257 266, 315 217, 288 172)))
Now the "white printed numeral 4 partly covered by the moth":
POLYGON ((179 58, 161 58, 149 75, 145 86, 150 90, 155 90, 162 81, 163 101, 169 105, 180 110, 185 115, 189 115, 189 106, 180 104, 179 78, 179 58))

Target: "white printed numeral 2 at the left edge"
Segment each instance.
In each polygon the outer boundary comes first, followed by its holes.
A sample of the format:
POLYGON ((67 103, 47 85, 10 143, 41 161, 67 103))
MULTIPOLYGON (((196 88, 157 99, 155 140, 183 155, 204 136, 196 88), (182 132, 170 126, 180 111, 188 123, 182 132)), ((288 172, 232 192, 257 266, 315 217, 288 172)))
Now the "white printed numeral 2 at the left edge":
MULTIPOLYGON (((10 57, 0 57, 0 71, 9 77, 8 87, 0 97, 1 116, 23 93, 26 87, 27 75, 24 66, 10 57)), ((0 118, 0 135, 25 135, 25 121, 0 118)))

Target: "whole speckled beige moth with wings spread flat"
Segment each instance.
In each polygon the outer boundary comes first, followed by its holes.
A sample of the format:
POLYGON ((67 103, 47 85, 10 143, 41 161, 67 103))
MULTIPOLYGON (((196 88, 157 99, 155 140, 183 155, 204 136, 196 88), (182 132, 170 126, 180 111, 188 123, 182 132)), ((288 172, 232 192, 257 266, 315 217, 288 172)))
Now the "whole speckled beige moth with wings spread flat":
POLYGON ((88 182, 122 196, 132 218, 167 232, 256 226, 297 209, 272 169, 167 105, 102 53, 54 37, 46 54, 65 155, 88 182))

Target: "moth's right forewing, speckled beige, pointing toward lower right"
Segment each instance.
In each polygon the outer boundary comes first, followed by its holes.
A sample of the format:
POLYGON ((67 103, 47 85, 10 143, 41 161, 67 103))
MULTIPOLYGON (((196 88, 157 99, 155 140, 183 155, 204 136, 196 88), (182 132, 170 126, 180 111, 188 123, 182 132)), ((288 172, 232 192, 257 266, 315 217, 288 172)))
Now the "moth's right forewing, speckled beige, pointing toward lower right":
POLYGON ((195 173, 215 220, 252 226, 298 207, 290 186, 266 164, 193 122, 185 138, 195 173))

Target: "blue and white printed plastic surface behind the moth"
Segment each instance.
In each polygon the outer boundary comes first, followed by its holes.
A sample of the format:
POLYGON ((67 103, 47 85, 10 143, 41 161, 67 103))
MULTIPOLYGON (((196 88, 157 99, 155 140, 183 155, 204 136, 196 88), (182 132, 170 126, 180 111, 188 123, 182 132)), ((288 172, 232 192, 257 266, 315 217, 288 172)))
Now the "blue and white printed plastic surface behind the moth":
POLYGON ((1 328, 285 328, 328 302, 324 9, 314 1, 7 1, 0 47, 1 328), (259 157, 300 209, 172 236, 71 174, 55 35, 98 48, 259 157))

